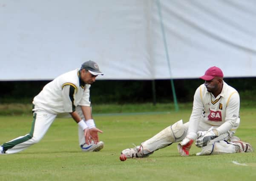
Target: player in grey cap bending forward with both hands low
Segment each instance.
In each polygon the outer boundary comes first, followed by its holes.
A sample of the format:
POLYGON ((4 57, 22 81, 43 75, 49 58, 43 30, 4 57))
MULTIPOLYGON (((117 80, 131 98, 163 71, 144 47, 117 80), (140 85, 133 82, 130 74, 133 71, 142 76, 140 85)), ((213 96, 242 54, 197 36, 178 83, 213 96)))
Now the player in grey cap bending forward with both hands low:
MULTIPOLYGON (((82 151, 99 151, 104 143, 99 141, 92 119, 90 84, 103 75, 98 64, 86 61, 81 69, 64 73, 46 84, 34 97, 34 119, 29 134, 19 136, 0 146, 0 154, 20 152, 39 142, 58 115, 70 114, 78 124, 78 139, 82 151)), ((69 116, 70 117, 70 116, 69 116)))

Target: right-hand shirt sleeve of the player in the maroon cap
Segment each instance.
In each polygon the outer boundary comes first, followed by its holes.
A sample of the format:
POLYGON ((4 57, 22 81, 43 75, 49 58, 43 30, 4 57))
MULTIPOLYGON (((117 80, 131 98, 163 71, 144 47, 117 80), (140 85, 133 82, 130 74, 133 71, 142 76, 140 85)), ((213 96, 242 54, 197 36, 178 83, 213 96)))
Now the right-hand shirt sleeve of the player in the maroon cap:
POLYGON ((226 117, 225 123, 219 126, 217 130, 220 134, 224 134, 229 131, 233 126, 236 126, 236 121, 239 119, 239 109, 240 109, 240 97, 238 92, 233 92, 230 97, 228 97, 226 105, 226 117))

